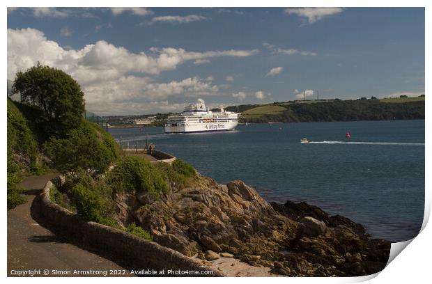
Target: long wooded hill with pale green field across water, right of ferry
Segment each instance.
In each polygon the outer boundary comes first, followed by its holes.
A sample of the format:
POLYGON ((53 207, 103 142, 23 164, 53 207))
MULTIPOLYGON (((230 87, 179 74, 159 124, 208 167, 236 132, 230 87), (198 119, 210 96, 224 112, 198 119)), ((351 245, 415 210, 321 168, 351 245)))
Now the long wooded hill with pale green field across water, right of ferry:
POLYGON ((424 119, 424 95, 378 100, 305 100, 243 104, 225 108, 242 113, 240 123, 424 119))

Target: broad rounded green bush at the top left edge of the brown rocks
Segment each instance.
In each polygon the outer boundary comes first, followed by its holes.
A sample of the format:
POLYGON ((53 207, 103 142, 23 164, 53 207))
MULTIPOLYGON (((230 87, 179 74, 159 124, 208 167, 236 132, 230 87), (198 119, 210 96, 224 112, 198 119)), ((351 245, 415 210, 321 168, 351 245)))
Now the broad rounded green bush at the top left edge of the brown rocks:
POLYGON ((168 189, 167 177, 150 162, 139 157, 124 157, 107 174, 107 184, 115 192, 148 192, 158 198, 168 189))

